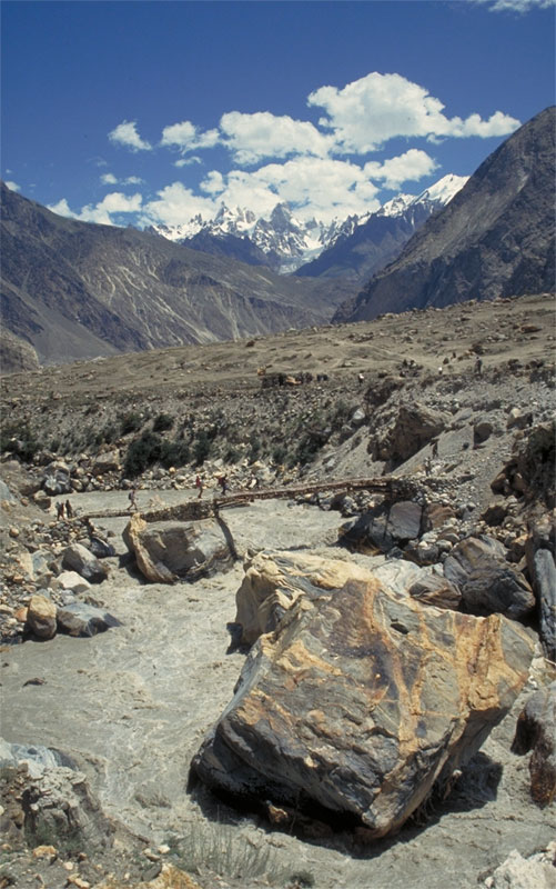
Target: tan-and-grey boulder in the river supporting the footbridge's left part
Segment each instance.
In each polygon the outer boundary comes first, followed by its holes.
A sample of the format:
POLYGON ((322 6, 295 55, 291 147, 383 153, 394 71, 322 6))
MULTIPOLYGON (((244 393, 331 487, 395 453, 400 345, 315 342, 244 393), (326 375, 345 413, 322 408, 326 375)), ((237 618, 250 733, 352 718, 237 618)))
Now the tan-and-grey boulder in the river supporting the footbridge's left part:
POLYGON ((222 520, 146 522, 131 517, 123 532, 141 573, 155 583, 198 580, 232 567, 235 549, 222 520))

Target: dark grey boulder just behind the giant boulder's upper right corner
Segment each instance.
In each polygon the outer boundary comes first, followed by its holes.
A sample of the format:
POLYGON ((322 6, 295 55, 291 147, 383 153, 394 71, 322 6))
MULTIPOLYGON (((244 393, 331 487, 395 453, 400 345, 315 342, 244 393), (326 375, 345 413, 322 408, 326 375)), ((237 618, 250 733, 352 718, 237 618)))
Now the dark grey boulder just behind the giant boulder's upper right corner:
POLYGON ((472 615, 499 612, 514 620, 535 607, 533 590, 506 560, 502 543, 489 537, 467 537, 451 551, 444 575, 462 593, 472 615))

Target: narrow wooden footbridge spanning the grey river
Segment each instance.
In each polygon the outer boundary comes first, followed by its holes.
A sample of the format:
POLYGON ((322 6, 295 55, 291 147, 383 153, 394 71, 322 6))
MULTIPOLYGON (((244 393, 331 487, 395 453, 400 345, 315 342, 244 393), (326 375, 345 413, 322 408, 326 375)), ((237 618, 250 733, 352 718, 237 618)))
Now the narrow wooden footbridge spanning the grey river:
MULTIPOLYGON (((388 500, 406 500, 415 496, 418 491, 418 486, 415 481, 408 478, 398 478, 396 476, 384 476, 375 479, 342 479, 341 481, 316 481, 306 485, 290 485, 285 488, 253 488, 241 491, 232 491, 224 496, 213 497, 211 499, 194 498, 185 500, 182 503, 174 506, 161 506, 148 508, 145 510, 130 510, 130 509, 105 509, 102 511, 83 512, 80 518, 83 519, 107 519, 117 518, 119 516, 130 516, 132 511, 139 512, 141 517, 148 521, 194 521, 199 519, 208 519, 218 517, 221 510, 230 509, 231 507, 249 506, 255 500, 279 500, 279 499, 295 499, 306 495, 320 493, 351 493, 352 491, 370 491, 372 493, 381 493, 388 498, 388 500)), ((140 493, 142 491, 140 490, 140 493)), ((159 491, 153 491, 159 495, 159 491)), ((160 491, 163 496, 163 491, 160 491)))

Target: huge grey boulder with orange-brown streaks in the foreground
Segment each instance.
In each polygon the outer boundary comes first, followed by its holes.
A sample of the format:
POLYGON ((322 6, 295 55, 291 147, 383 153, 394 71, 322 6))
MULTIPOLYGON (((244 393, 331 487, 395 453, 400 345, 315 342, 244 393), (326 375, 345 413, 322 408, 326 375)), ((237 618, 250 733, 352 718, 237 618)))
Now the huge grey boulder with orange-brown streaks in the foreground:
POLYGON ((424 608, 375 580, 300 597, 251 649, 192 786, 392 833, 507 713, 533 651, 501 615, 424 608))

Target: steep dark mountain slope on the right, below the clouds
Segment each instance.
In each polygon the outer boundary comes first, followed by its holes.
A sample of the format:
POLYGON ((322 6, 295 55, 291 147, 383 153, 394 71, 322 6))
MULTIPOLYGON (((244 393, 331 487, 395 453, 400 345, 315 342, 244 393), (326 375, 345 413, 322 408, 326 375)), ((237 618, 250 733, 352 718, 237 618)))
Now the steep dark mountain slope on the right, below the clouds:
POLYGON ((555 123, 548 108, 510 136, 334 320, 553 290, 555 123))

